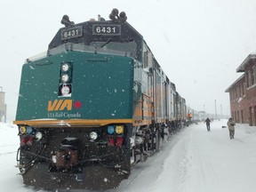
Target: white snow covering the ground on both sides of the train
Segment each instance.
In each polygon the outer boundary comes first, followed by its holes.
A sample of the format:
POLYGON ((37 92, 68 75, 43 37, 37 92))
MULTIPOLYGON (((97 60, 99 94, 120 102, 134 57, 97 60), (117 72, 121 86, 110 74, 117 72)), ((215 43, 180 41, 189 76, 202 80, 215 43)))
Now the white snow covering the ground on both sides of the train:
MULTIPOLYGON (((108 192, 256 191, 256 127, 237 124, 235 140, 229 140, 228 128, 221 128, 226 124, 227 120, 212 122, 211 132, 204 123, 181 129, 164 141, 159 153, 138 164, 119 188, 108 192)), ((17 128, 0 124, 0 188, 44 192, 22 184, 14 167, 18 147, 17 128)))

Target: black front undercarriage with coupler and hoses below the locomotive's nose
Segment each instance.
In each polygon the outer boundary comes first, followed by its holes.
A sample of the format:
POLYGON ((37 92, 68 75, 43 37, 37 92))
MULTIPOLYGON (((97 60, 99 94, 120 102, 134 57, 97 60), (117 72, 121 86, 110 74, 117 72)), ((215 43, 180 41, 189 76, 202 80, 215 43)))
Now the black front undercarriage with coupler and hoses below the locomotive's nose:
MULTIPOLYGON (((81 128, 40 129, 40 141, 21 144, 17 155, 24 184, 37 188, 116 188, 131 172, 130 142, 108 135, 90 140, 81 128)), ((26 137, 29 137, 28 135, 26 137)), ((120 136, 121 137, 121 136, 120 136)), ((29 140, 29 138, 27 139, 29 140)))

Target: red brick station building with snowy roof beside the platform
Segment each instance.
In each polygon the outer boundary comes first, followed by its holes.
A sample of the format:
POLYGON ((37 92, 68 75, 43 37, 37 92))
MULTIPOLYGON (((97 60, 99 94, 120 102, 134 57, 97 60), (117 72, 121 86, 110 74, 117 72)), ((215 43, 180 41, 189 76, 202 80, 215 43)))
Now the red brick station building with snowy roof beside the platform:
POLYGON ((236 123, 256 125, 256 52, 236 68, 243 73, 225 92, 229 92, 231 116, 236 123))

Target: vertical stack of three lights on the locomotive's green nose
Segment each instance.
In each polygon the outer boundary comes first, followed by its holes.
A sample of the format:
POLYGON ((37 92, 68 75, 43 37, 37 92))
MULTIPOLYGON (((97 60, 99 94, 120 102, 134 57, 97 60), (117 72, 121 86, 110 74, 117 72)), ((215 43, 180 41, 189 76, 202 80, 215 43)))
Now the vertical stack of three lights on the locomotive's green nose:
POLYGON ((72 92, 72 72, 71 63, 63 62, 60 64, 60 85, 59 96, 70 97, 72 92))

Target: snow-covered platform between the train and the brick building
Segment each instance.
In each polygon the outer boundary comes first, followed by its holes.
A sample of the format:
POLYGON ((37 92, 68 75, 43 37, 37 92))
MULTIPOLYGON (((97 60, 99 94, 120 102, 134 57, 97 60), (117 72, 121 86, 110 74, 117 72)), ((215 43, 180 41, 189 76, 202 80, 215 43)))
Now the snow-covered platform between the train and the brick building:
POLYGON ((256 135, 246 134, 244 126, 238 125, 235 140, 229 140, 228 128, 222 125, 226 121, 214 122, 211 132, 203 123, 180 132, 164 172, 149 191, 160 186, 166 192, 256 191, 256 135))

